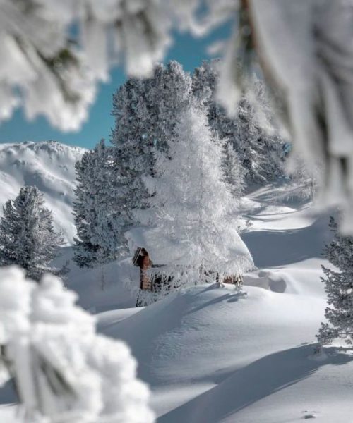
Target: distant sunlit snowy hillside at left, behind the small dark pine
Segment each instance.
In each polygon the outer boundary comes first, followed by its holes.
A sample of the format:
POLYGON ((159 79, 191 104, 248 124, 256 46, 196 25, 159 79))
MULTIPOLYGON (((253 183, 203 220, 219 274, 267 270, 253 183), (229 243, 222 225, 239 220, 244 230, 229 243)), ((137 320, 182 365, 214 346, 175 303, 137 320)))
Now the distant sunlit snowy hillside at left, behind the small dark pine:
MULTIPOLYGON (((57 228, 73 240, 72 216, 75 163, 85 149, 54 141, 0 144, 0 206, 18 195, 23 185, 35 185, 54 214, 57 228)), ((1 212, 1 210, 0 210, 1 212)))

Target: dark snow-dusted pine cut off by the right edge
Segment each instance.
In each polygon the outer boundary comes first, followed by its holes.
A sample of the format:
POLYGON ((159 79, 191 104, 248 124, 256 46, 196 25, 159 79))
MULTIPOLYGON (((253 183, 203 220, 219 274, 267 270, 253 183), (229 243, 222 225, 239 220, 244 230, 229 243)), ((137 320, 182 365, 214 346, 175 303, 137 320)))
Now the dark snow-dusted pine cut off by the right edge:
POLYGON ((353 237, 340 235, 337 223, 331 216, 329 223, 333 231, 333 240, 326 245, 325 258, 337 270, 322 266, 325 277, 325 291, 328 294, 328 307, 325 317, 328 323, 322 323, 318 331, 321 345, 342 338, 345 343, 353 343, 353 237))

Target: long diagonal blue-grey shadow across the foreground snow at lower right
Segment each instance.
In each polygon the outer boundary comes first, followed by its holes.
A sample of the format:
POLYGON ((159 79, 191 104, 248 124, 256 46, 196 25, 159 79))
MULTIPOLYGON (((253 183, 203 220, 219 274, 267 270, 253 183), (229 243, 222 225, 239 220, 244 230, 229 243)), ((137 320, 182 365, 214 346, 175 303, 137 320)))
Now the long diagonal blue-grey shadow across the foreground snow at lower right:
MULTIPOLYGON (((310 360, 313 344, 283 350, 257 360, 189 403, 162 415, 159 423, 216 423, 267 396, 297 384, 327 364, 344 365, 352 355, 328 348, 325 360, 310 360)), ((234 416, 234 419, 236 416, 234 416)))

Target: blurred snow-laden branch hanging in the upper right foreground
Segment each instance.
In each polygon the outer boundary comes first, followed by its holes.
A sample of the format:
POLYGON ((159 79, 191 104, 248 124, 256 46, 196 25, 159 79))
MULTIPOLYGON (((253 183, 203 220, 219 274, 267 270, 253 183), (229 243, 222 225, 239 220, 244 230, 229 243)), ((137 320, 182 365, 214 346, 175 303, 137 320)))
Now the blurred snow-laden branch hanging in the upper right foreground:
MULTIPOLYGON (((280 99, 279 116, 309 168, 323 168, 321 204, 342 209, 341 231, 352 233, 352 40, 350 0, 243 1, 251 42, 280 99)), ((243 30, 246 25, 243 26, 243 30)), ((244 40, 243 40, 244 41, 244 40)))

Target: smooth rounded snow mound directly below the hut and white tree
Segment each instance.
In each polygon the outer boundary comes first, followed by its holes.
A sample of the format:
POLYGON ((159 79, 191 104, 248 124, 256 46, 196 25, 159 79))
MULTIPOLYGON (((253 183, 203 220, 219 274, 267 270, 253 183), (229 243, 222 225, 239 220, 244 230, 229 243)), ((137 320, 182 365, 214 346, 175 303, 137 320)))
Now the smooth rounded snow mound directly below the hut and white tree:
POLYGON ((164 382, 180 384, 189 380, 190 372, 197 378, 213 377, 220 362, 224 371, 233 370, 239 360, 255 360, 308 338, 313 341, 323 317, 324 298, 283 295, 252 286, 244 290, 246 295, 237 293, 234 286, 186 288, 110 326, 107 334, 128 342, 143 379, 156 381, 163 369, 164 382), (285 327, 290 333, 283 333, 285 327), (261 351, 251 348, 254 337, 261 351))

